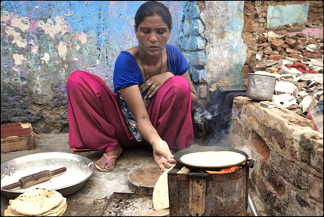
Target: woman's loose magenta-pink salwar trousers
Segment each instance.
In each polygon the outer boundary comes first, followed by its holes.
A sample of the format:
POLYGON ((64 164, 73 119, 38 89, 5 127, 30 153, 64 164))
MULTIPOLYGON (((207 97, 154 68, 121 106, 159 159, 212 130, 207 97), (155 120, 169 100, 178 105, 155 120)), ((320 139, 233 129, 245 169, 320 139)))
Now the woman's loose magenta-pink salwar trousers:
MULTIPOLYGON (((125 146, 148 144, 136 141, 128 129, 116 93, 102 79, 77 70, 67 81, 70 148, 113 151, 125 146)), ((193 143, 191 93, 182 76, 168 79, 153 96, 147 110, 153 127, 169 148, 193 143)))

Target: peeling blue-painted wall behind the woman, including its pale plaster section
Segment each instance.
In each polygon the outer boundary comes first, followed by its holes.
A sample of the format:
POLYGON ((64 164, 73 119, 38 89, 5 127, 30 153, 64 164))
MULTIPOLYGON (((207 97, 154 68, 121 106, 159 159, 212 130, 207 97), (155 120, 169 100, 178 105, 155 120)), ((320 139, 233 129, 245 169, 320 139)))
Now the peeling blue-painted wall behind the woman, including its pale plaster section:
MULTIPOLYGON (((168 43, 184 53, 195 87, 241 84, 244 2, 206 2, 201 13, 195 1, 161 2, 173 17, 168 43)), ((68 76, 85 70, 113 90, 115 59, 137 46, 134 16, 143 3, 2 1, 2 124, 31 123, 36 133, 67 132, 68 76)))

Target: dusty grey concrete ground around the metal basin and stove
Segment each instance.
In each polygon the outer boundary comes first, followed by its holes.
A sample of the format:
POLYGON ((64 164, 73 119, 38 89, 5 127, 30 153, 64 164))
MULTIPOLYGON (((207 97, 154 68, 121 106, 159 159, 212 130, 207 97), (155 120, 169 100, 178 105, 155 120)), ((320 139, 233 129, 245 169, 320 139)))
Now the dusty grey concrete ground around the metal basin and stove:
MULTIPOLYGON (((96 161, 103 155, 103 151, 85 151, 73 152, 69 148, 68 133, 60 134, 39 134, 42 138, 34 136, 34 149, 29 151, 17 151, 1 153, 1 163, 6 161, 45 152, 65 152, 84 156, 92 161, 96 161)), ((198 142, 192 144, 192 147, 200 146, 198 142)), ((67 208, 65 216, 94 216, 102 215, 103 207, 109 197, 114 192, 133 193, 127 182, 127 176, 133 170, 140 167, 156 166, 153 160, 152 150, 146 147, 124 147, 123 153, 116 162, 115 168, 111 172, 100 172, 96 170, 94 174, 86 181, 85 185, 77 192, 65 196, 67 199, 67 208)), ((253 200, 259 212, 259 215, 269 216, 269 213, 258 198, 255 190, 250 187, 253 200)), ((1 215, 4 215, 5 209, 9 205, 9 199, 1 194, 1 215)), ((252 216, 248 209, 248 215, 252 216)))

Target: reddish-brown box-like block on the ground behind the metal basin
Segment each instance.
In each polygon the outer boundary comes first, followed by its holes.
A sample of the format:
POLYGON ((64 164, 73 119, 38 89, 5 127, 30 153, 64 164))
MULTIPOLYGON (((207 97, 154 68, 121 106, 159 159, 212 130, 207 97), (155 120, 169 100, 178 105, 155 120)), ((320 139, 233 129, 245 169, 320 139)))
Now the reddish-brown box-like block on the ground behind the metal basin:
POLYGON ((1 125, 1 153, 34 149, 30 123, 1 125))

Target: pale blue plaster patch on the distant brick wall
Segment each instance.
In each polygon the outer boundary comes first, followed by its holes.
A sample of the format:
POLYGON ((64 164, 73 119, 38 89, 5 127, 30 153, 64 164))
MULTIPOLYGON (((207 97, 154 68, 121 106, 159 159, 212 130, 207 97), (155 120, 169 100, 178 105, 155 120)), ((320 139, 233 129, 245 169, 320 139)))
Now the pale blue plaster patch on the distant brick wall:
POLYGON ((307 21, 308 5, 268 6, 267 28, 307 21))

